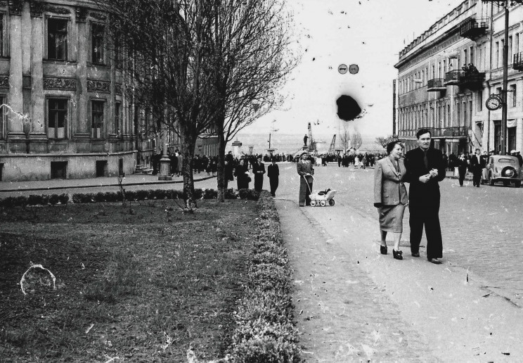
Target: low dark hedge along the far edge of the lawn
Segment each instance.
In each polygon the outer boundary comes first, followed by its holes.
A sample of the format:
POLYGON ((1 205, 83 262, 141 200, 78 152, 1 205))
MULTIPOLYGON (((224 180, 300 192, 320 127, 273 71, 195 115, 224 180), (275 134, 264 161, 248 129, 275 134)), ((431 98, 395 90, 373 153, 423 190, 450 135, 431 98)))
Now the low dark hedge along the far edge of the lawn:
MULTIPOLYGON (((195 189, 195 199, 216 199, 218 191, 214 189, 195 189)), ((106 191, 98 193, 74 193, 72 200, 69 200, 69 194, 31 194, 30 196, 16 196, 0 199, 0 207, 25 207, 26 205, 56 205, 72 203, 99 203, 99 202, 121 202, 121 191, 106 191)), ((226 199, 248 199, 258 200, 259 191, 254 189, 226 189, 226 199)), ((126 200, 149 200, 149 199, 183 199, 183 191, 180 190, 164 190, 164 189, 150 189, 126 191, 126 200)))

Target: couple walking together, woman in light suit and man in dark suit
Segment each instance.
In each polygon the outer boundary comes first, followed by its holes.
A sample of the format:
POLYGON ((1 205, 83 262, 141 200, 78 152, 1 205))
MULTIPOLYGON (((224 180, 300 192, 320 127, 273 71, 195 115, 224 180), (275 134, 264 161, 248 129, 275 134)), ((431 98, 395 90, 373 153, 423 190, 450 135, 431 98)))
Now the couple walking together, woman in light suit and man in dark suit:
POLYGON ((427 260, 440 264, 443 257, 439 226, 439 184, 445 178, 441 152, 430 146, 428 129, 416 133, 418 148, 408 151, 403 161, 403 144, 392 141, 387 145, 387 157, 378 160, 374 172, 374 206, 380 215, 380 251, 387 255, 387 232, 394 234, 392 255, 402 260, 399 241, 403 232, 403 213, 410 212, 411 255, 420 257, 420 242, 425 225, 427 260), (410 184, 409 195, 404 182, 410 184))

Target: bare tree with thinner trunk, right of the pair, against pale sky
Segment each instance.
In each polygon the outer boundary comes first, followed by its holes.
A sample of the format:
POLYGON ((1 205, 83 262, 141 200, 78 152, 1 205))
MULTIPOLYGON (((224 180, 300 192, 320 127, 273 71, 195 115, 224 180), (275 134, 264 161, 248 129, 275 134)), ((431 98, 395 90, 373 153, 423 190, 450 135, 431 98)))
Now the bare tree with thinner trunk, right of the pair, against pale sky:
POLYGON ((258 117, 279 106, 277 94, 296 65, 290 52, 285 0, 215 2, 212 63, 214 127, 219 137, 218 199, 224 201, 226 144, 258 117))

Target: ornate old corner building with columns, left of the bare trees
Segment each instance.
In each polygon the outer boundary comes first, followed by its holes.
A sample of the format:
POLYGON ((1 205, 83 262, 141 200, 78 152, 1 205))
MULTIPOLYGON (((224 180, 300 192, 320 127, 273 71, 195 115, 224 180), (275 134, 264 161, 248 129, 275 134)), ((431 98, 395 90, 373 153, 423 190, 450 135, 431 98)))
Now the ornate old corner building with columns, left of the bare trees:
POLYGON ((0 181, 131 174, 137 153, 149 162, 154 142, 139 137, 104 23, 93 1, 0 1, 0 181))

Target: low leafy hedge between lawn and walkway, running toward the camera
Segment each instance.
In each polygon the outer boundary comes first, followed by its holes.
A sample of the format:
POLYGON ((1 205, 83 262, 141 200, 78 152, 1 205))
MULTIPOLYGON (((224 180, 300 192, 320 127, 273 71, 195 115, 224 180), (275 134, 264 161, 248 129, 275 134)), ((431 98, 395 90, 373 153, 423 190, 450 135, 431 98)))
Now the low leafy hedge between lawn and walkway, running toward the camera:
POLYGON ((302 362, 287 249, 269 192, 260 193, 257 208, 257 241, 245 294, 235 314, 233 362, 302 362))

